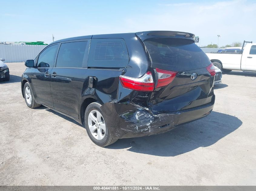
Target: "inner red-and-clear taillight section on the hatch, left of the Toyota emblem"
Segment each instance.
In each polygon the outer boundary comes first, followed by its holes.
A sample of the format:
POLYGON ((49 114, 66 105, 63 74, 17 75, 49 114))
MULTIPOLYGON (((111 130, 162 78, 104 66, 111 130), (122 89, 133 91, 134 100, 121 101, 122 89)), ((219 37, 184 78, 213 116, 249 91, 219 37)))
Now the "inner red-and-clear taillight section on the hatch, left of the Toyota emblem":
POLYGON ((177 74, 177 72, 161 70, 158 68, 156 68, 156 71, 158 73, 157 88, 170 84, 177 74))

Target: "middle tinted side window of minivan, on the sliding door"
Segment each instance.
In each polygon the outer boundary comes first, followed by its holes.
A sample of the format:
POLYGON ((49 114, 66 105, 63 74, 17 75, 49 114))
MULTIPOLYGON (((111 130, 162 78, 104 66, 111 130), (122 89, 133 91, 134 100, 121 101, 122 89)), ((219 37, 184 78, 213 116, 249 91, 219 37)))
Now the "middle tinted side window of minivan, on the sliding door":
POLYGON ((82 68, 87 41, 62 43, 57 56, 56 67, 82 68))

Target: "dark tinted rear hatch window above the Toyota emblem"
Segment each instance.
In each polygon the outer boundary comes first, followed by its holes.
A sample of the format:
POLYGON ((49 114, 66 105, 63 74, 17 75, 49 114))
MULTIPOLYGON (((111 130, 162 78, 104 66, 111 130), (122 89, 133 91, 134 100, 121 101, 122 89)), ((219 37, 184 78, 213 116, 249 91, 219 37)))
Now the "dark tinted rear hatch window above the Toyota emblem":
POLYGON ((192 40, 150 38, 144 43, 154 68, 178 72, 204 68, 211 64, 206 54, 192 40))

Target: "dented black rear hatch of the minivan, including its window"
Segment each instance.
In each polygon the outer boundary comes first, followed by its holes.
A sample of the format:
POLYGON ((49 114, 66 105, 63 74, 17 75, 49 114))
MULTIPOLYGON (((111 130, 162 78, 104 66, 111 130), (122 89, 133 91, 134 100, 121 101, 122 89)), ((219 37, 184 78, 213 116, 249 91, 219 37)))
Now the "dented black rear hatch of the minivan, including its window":
POLYGON ((151 111, 171 113, 213 104, 214 75, 207 69, 211 61, 194 43, 194 35, 174 31, 151 34, 137 35, 148 50, 157 83, 168 71, 174 73, 171 83, 161 87, 156 83, 149 99, 151 111))

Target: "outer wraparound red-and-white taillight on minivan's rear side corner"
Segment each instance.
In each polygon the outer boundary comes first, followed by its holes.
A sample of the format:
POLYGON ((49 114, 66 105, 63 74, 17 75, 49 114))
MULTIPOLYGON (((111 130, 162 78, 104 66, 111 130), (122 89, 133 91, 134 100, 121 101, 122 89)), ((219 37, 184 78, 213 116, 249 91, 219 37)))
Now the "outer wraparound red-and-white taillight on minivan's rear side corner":
POLYGON ((141 78, 131 78, 127 76, 119 76, 121 84, 124 88, 137 91, 153 91, 155 83, 151 72, 147 72, 141 78))

